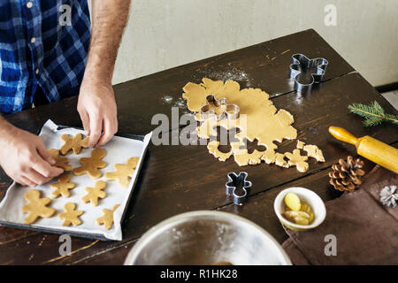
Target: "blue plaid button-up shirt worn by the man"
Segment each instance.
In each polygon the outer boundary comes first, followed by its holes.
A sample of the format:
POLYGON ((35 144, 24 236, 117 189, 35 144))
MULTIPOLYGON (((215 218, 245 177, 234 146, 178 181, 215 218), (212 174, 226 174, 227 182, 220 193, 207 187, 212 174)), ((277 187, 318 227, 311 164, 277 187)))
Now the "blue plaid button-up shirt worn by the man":
POLYGON ((78 95, 89 40, 87 0, 0 0, 0 112, 78 95))

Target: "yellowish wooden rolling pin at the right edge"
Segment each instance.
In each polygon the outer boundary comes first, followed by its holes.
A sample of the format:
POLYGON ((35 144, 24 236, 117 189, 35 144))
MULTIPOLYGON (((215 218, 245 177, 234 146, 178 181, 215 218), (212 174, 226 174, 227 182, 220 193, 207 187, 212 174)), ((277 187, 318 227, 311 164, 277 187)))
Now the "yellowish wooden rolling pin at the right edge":
POLYGON ((369 135, 356 138, 353 134, 339 126, 329 126, 329 133, 342 142, 356 146, 356 152, 380 166, 398 174, 398 149, 384 142, 373 139, 369 135))

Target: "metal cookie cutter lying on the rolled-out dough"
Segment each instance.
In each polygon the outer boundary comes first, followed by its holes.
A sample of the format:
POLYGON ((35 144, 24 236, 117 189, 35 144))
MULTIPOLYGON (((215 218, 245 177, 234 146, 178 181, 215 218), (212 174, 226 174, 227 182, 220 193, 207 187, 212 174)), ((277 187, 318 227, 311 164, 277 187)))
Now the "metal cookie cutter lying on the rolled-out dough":
POLYGON ((226 98, 222 97, 220 99, 216 99, 213 95, 206 96, 207 104, 201 107, 202 119, 209 119, 210 117, 215 117, 216 120, 221 119, 238 119, 239 118, 239 106, 235 104, 227 104, 226 98), (223 107, 224 111, 217 115, 213 110, 210 110, 210 104, 213 104, 216 107, 223 107))

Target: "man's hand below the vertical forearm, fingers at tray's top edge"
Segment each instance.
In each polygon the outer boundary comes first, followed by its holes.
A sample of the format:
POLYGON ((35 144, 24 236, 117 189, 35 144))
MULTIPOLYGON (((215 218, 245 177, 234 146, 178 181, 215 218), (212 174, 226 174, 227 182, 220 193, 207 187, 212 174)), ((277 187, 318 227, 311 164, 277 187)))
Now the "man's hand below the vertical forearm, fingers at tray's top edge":
POLYGON ((83 79, 77 110, 89 136, 89 148, 103 146, 118 132, 117 106, 111 83, 83 79))

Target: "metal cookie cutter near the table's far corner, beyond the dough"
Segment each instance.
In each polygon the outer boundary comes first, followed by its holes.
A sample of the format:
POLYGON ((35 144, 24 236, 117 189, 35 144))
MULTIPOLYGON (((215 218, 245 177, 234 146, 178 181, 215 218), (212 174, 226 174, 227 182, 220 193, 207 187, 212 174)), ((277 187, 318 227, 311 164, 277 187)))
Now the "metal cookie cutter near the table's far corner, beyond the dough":
POLYGON ((295 54, 292 56, 293 64, 290 67, 290 78, 295 78, 295 90, 297 92, 310 92, 314 83, 319 83, 326 73, 326 67, 329 64, 325 58, 310 59, 303 54, 295 54), (302 71, 300 67, 306 71, 317 67, 316 73, 311 73, 312 81, 309 84, 299 82, 302 71))

